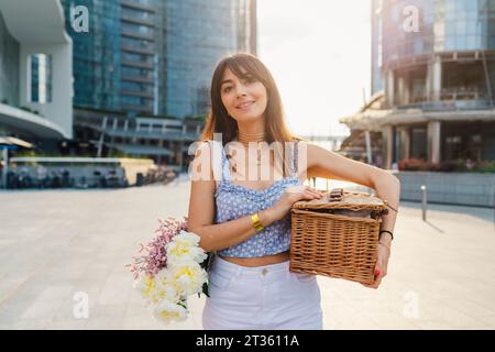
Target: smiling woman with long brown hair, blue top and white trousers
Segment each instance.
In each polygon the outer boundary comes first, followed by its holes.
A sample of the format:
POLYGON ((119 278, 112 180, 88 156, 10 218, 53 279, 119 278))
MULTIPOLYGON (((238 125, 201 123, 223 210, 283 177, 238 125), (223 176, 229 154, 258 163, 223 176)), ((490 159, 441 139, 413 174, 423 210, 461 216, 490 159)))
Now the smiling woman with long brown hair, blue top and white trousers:
MULTIPOLYGON (((284 121, 272 75, 251 54, 218 64, 201 141, 191 163, 188 230, 200 237, 205 251, 217 253, 209 267, 204 328, 322 329, 316 277, 288 270, 290 207, 321 197, 304 180, 361 184, 397 209, 398 179, 295 138, 284 121), (213 141, 218 136, 221 140, 213 141), (293 147, 274 147, 273 156, 268 150, 263 160, 256 151, 266 152, 268 143, 293 147), (260 170, 270 177, 260 178, 260 170)), ((387 273, 395 219, 395 211, 383 219, 381 231, 387 232, 381 232, 376 279, 369 287, 377 288, 387 273)))

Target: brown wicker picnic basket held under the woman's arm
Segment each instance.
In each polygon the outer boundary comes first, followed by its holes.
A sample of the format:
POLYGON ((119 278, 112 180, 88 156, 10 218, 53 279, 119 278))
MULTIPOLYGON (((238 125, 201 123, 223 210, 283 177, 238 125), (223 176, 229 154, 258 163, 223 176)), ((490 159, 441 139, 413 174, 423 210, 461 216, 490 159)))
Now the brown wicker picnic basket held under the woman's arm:
POLYGON ((297 201, 292 209, 290 272, 372 284, 386 202, 362 193, 297 201), (339 197, 338 197, 339 198, 339 197))

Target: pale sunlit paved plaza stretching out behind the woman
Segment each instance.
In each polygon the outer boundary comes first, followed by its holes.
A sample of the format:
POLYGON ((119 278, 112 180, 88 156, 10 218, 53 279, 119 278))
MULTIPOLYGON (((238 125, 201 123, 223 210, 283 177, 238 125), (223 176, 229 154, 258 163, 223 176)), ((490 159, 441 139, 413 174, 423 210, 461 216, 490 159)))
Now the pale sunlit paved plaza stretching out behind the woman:
MULTIPOLYGON (((124 267, 157 228, 187 215, 189 183, 94 190, 0 191, 1 329, 201 329, 162 326, 124 267), (89 316, 78 307, 89 302, 89 316)), ((377 290, 319 277, 324 329, 495 329, 493 209, 402 204, 377 290)))

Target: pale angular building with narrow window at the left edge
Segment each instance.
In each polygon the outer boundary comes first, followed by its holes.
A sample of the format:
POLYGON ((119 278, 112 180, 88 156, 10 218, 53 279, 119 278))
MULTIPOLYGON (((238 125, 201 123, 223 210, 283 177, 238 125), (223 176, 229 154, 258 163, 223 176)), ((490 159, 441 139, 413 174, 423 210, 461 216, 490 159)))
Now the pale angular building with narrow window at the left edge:
POLYGON ((59 1, 0 0, 0 136, 45 152, 73 138, 72 52, 59 1))

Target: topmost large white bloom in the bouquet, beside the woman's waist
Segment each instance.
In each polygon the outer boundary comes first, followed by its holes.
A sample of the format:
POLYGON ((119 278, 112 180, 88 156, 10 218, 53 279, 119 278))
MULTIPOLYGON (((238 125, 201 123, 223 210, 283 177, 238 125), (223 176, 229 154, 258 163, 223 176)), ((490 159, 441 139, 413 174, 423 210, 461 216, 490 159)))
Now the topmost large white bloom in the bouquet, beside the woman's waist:
POLYGON ((201 263, 208 255, 198 245, 199 237, 197 234, 182 231, 166 246, 167 265, 179 265, 188 261, 201 263))

